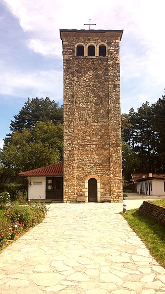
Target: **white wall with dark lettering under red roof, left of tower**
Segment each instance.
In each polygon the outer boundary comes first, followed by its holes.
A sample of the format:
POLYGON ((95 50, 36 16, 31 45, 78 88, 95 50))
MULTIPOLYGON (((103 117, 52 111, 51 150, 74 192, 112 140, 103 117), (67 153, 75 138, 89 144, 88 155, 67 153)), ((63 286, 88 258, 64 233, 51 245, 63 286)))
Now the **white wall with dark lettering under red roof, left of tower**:
POLYGON ((28 199, 45 199, 46 177, 28 177, 27 180, 28 199), (29 185, 30 181, 31 185, 29 185))

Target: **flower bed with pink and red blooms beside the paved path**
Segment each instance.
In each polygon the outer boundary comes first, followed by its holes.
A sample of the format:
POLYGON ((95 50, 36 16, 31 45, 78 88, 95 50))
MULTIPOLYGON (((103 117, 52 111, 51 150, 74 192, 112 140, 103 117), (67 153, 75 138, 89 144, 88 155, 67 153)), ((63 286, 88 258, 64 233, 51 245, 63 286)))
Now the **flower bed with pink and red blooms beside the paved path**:
MULTIPOLYGON (((5 207, 5 205, 4 205, 5 207)), ((6 204, 7 209, 0 214, 0 247, 8 240, 36 226, 45 217, 47 208, 45 204, 6 204)))

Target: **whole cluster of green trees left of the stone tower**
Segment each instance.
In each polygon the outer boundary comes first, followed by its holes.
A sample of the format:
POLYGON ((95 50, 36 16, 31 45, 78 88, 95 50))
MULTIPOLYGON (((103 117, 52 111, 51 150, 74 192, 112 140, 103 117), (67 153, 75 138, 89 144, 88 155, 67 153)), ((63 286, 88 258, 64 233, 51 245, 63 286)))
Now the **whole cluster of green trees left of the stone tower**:
POLYGON ((28 98, 14 118, 0 150, 0 183, 63 160, 63 107, 48 97, 28 98))

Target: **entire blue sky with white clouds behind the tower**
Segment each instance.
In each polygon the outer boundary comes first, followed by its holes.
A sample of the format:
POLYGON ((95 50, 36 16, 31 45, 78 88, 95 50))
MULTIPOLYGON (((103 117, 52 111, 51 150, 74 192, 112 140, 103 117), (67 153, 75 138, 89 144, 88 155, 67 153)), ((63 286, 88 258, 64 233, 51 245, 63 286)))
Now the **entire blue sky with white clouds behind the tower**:
POLYGON ((165 1, 163 0, 1 0, 0 146, 13 115, 27 97, 62 104, 62 44, 59 29, 124 29, 121 41, 122 113, 165 89, 165 1))

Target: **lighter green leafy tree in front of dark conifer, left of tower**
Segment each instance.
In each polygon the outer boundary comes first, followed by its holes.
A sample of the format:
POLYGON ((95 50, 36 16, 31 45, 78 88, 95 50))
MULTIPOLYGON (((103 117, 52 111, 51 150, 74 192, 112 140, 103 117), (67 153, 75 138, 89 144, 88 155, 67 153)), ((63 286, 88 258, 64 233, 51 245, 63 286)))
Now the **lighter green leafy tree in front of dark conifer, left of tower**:
POLYGON ((63 156, 61 123, 38 122, 33 131, 22 129, 11 134, 10 142, 1 151, 4 166, 18 172, 54 164, 63 156))

